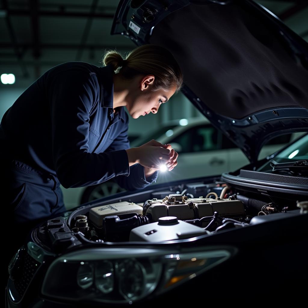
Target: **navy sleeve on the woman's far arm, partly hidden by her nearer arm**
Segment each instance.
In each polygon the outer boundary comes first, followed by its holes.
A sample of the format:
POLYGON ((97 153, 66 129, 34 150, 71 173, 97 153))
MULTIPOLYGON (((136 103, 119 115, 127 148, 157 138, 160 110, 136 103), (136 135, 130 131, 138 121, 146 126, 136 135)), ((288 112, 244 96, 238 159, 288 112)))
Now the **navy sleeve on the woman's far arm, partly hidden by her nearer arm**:
MULTIPOLYGON (((125 113, 126 125, 123 131, 117 136, 117 138, 112 142, 112 144, 107 148, 105 152, 114 152, 121 149, 129 149, 128 140, 128 115, 125 113)), ((134 164, 130 167, 129 175, 118 175, 114 180, 122 187, 127 190, 135 190, 140 188, 145 188, 148 185, 156 182, 158 176, 158 171, 155 171, 151 177, 146 180, 144 175, 144 167, 140 164, 134 164)))

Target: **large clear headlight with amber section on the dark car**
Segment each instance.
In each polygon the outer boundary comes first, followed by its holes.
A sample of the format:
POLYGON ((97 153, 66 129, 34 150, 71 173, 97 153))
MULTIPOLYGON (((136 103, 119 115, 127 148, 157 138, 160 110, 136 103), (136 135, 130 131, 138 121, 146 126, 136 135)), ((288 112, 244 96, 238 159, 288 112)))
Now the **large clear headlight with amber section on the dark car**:
POLYGON ((235 253, 233 247, 172 253, 139 247, 83 249, 52 262, 42 294, 72 302, 131 303, 166 292, 235 253))

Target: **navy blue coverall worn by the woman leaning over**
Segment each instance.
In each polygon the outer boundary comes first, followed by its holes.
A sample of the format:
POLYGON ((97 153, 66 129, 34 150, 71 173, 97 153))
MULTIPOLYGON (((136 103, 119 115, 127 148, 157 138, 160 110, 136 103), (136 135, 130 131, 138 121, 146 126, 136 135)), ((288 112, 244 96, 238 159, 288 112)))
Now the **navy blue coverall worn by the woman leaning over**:
POLYGON ((129 167, 128 115, 124 107, 113 112, 113 74, 111 65, 60 64, 6 111, 0 125, 3 194, 16 223, 65 211, 60 183, 81 187, 115 177, 134 190, 156 181, 157 171, 146 180, 143 166, 129 167))

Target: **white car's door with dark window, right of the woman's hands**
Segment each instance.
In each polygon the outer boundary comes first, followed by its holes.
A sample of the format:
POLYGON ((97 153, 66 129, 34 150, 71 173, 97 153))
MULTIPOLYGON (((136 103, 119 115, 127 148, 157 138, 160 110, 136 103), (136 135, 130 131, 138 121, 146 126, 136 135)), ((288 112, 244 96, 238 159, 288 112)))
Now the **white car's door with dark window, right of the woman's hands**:
POLYGON ((227 154, 221 150, 221 133, 211 124, 188 128, 168 143, 179 151, 178 165, 171 172, 160 172, 157 183, 227 171, 227 154))

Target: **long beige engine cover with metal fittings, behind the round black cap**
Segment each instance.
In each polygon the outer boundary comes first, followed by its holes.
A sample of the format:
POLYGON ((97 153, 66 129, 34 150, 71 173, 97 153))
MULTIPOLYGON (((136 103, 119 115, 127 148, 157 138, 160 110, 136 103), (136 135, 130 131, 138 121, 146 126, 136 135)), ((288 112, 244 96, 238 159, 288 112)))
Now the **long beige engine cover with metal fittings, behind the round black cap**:
POLYGON ((170 194, 162 200, 152 199, 144 202, 143 215, 151 216, 152 221, 160 217, 174 216, 180 220, 200 219, 218 212, 223 217, 243 217, 243 202, 229 199, 188 198, 180 194, 170 194))

